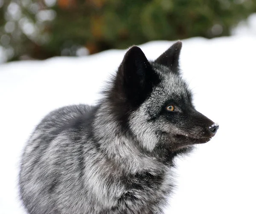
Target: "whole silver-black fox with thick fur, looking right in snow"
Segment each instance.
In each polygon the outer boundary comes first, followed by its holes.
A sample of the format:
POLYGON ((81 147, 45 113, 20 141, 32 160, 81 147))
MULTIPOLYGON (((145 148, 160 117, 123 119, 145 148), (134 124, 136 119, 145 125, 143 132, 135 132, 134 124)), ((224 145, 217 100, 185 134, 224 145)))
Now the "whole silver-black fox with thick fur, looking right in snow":
POLYGON ((175 157, 219 128, 195 110, 181 47, 177 41, 153 61, 132 46, 96 105, 44 117, 20 163, 20 199, 29 214, 164 213, 175 157))

